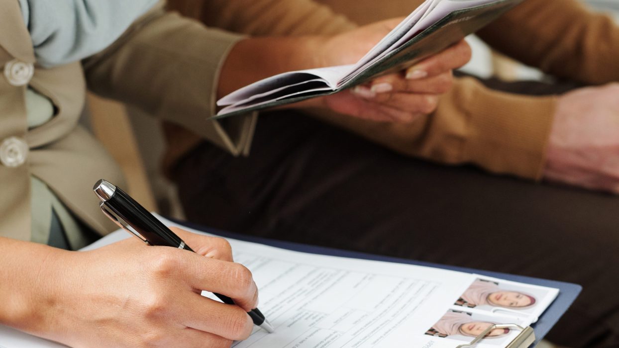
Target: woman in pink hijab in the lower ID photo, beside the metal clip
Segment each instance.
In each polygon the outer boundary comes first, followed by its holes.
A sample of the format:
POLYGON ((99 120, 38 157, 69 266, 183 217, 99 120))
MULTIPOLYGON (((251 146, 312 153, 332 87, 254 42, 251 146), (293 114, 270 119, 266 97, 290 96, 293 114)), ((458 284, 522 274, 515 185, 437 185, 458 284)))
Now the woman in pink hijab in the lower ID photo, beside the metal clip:
MULTIPOLYGON (((443 316, 443 318, 441 318, 441 320, 436 322, 432 328, 426 331, 426 334, 438 337, 457 335, 477 337, 482 334, 483 331, 495 324, 496 323, 490 323, 488 321, 475 320, 469 313, 449 311, 443 316)), ((503 337, 506 334, 509 334, 509 329, 493 329, 487 334, 486 338, 503 337)), ((461 339, 464 339, 464 337, 461 337, 461 339)))

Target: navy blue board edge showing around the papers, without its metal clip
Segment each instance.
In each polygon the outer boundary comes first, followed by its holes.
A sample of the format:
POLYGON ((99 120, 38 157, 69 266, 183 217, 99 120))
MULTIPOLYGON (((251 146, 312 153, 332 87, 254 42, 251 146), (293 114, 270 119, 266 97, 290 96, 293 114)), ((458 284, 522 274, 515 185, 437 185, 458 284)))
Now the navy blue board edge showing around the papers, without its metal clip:
POLYGON ((576 300, 576 297, 578 297, 578 295, 582 291, 582 286, 571 284, 568 282, 550 281, 546 279, 531 278, 531 277, 526 277, 526 276, 516 276, 514 274, 483 271, 481 269, 472 269, 472 268, 464 268, 464 267, 456 267, 456 266, 444 266, 444 265, 438 265, 436 263, 407 260, 405 258, 385 257, 381 255, 373 255, 373 254, 368 254, 368 253, 351 252, 347 250, 340 250, 340 249, 334 249, 334 248, 318 247, 316 245, 284 242, 282 240, 265 239, 261 237, 246 236, 244 234, 238 234, 238 233, 233 233, 233 232, 220 231, 217 229, 204 227, 199 224, 189 223, 186 221, 179 221, 175 219, 170 219, 170 220, 175 221, 176 223, 182 224, 183 226, 196 229, 198 231, 215 234, 216 236, 230 238, 230 239, 245 240, 246 242, 254 242, 254 243, 259 243, 259 244, 270 245, 271 247, 293 250, 295 252, 313 253, 313 254, 318 254, 318 255, 329 255, 329 256, 347 257, 347 258, 360 258, 363 260, 387 261, 387 262, 395 262, 395 263, 405 263, 408 265, 443 268, 443 269, 450 269, 452 271, 482 274, 485 276, 501 278, 501 279, 505 279, 508 281, 524 282, 527 284, 534 284, 534 285, 539 285, 539 286, 555 287, 556 289, 559 289, 559 295, 556 297, 555 302, 553 302, 552 305, 548 307, 546 312, 544 312, 542 316, 540 316, 537 323, 534 323, 533 325, 531 325, 531 327, 535 331, 535 343, 533 344, 532 347, 537 346, 537 344, 540 341, 542 341, 543 337, 545 337, 550 331, 550 329, 552 329, 552 327, 555 326, 556 322, 559 321, 561 316, 563 316, 563 314, 568 310, 568 308, 572 305, 574 300, 576 300))

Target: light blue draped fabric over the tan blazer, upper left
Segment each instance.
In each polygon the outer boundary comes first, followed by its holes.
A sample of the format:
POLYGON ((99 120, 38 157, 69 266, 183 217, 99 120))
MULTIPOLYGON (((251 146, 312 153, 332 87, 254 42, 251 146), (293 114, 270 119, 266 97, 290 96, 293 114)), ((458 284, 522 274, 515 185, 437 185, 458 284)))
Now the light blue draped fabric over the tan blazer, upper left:
POLYGON ((18 0, 37 62, 76 62, 111 45, 157 0, 18 0))

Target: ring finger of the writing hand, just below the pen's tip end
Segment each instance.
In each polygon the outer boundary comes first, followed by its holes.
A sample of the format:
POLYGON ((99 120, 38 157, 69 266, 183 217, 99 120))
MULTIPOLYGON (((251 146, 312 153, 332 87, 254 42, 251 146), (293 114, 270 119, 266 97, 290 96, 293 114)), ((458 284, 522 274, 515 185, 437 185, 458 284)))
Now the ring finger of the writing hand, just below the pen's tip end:
POLYGON ((253 321, 241 307, 220 303, 198 294, 192 294, 183 305, 184 316, 181 323, 188 328, 232 340, 246 339, 254 329, 253 321))

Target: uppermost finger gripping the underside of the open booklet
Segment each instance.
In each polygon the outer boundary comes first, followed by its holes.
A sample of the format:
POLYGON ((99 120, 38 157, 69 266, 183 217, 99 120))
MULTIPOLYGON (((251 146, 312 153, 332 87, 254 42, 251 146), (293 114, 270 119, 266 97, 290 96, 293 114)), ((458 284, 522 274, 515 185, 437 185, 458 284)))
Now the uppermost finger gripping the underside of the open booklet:
POLYGON ((441 53, 409 67, 406 70, 406 78, 409 80, 420 80, 443 74, 448 70, 457 69, 470 61, 471 54, 469 44, 462 40, 441 53))

